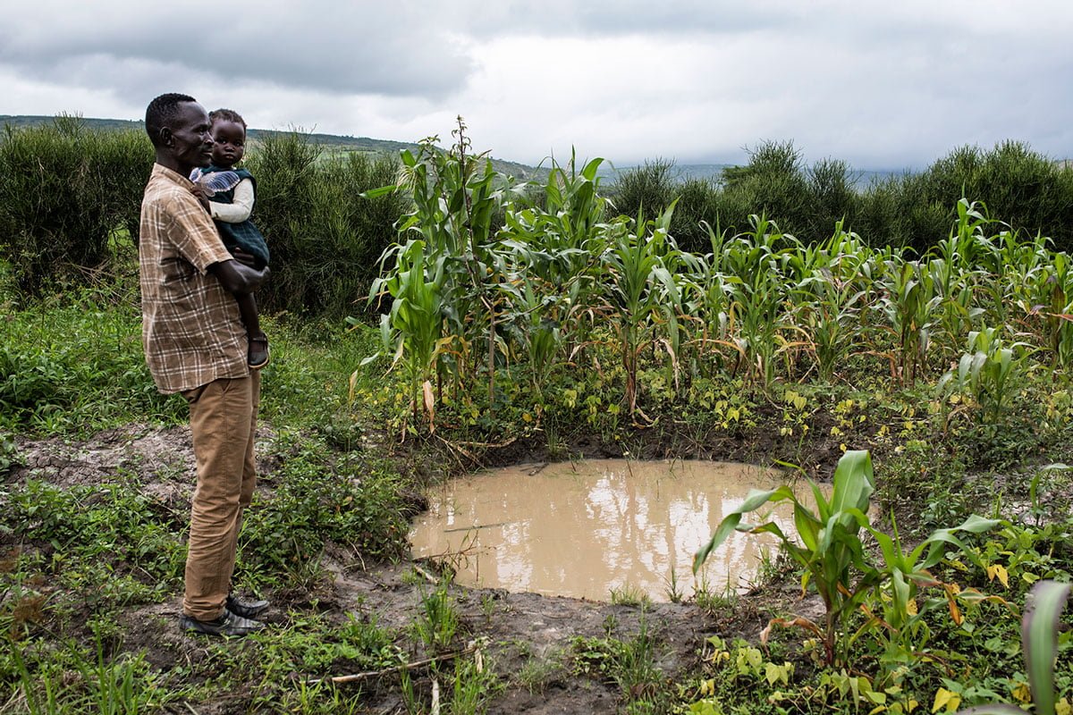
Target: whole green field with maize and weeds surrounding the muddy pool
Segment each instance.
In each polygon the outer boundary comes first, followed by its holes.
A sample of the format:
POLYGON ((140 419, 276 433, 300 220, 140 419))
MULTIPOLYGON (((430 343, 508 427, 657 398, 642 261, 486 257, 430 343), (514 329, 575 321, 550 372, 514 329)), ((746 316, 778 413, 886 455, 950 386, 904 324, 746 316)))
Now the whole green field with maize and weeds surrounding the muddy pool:
MULTIPOLYGON (((307 149, 268 143, 256 175, 321 165, 307 149)), ((622 214, 628 182, 612 204, 601 163, 521 185, 459 126, 450 150, 420 144, 347 184, 354 206, 396 202, 398 223, 364 283, 275 288, 237 571, 274 609, 245 641, 175 627, 189 433, 142 361, 123 222, 92 270, 9 237, 0 712, 1069 712, 1050 621, 1065 593, 1040 586, 1073 566, 1068 254, 970 197, 915 250, 763 213, 699 222, 686 245, 680 204, 622 214), (800 539, 746 595, 542 598, 408 557, 408 519, 444 479, 623 456, 780 465, 835 497, 797 505, 800 539)), ((330 224, 296 208, 303 191, 269 179, 269 195, 280 245, 303 235, 294 217, 330 224)), ((697 549, 752 509, 770 531, 764 504, 790 498, 758 495, 697 549)))

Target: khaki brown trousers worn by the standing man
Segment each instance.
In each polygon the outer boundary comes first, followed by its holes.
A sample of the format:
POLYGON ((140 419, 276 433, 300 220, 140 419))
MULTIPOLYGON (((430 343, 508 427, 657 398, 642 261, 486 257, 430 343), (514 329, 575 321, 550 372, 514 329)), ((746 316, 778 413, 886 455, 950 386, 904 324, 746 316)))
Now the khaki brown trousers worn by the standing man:
POLYGON ((242 510, 250 505, 256 483, 253 436, 261 373, 217 379, 182 397, 190 404, 197 463, 182 611, 199 621, 211 621, 223 614, 231 592, 242 510))

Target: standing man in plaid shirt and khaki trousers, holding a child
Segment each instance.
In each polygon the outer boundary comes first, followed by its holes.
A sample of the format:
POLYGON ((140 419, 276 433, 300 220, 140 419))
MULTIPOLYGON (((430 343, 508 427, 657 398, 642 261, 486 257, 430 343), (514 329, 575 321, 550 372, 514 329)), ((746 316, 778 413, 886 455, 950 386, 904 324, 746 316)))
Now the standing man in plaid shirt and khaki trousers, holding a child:
POLYGON ((253 619, 268 604, 231 595, 238 530, 255 482, 261 398, 235 296, 255 291, 268 269, 227 252, 191 191, 190 172, 207 166, 212 153, 205 108, 186 94, 161 94, 146 109, 145 129, 157 163, 142 202, 142 342, 157 388, 180 392, 190 405, 197 462, 179 625, 246 636, 263 627, 253 619))

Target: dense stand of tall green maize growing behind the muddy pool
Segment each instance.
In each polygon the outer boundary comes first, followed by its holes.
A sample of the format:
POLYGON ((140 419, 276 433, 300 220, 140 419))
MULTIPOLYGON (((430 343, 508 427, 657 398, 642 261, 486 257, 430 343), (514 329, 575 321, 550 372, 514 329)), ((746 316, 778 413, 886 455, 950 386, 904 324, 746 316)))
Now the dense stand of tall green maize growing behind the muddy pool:
POLYGON ((832 381, 866 354, 885 357, 902 386, 955 362, 943 387, 993 420, 1010 405, 1029 345, 1052 358, 1055 374, 1073 366, 1069 256, 1040 236, 989 235, 1001 224, 981 205, 959 202, 949 235, 920 259, 871 248, 841 223, 805 244, 758 215, 737 235, 704 224, 710 252, 694 254, 671 234, 674 204, 652 221, 611 217, 602 160, 553 164, 543 200, 530 202, 524 185, 470 150, 460 122, 455 136, 451 151, 427 140, 402 153, 393 189, 410 192, 414 210, 400 220, 373 289, 402 301, 385 336, 413 360, 417 387, 450 376, 472 396, 485 379, 494 404, 499 370, 534 391, 559 366, 591 368, 603 379, 611 347, 622 368, 621 402, 635 415, 646 361, 665 368, 681 394, 684 375, 744 374, 766 388, 814 369, 832 381), (422 291, 439 301, 431 348, 416 327, 432 321, 416 317, 422 291), (1011 338, 1002 342, 987 325, 1008 326, 1011 338), (964 351, 966 334, 973 344, 964 351))

